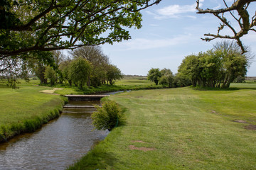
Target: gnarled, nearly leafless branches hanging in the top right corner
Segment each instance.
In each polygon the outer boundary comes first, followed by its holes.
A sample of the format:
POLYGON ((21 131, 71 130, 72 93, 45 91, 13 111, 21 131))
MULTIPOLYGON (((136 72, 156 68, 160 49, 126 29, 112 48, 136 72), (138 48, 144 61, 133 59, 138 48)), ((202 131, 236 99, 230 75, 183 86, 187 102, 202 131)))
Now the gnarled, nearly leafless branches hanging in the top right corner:
MULTIPOLYGON (((220 9, 202 9, 200 8, 200 1, 197 0, 196 9, 198 10, 197 13, 212 13, 216 16, 220 21, 220 27, 218 27, 218 31, 216 34, 205 34, 207 38, 201 38, 202 40, 210 41, 214 40, 215 38, 225 38, 225 39, 232 39, 238 42, 240 49, 242 50, 242 54, 247 52, 244 45, 242 45, 242 41, 240 38, 242 36, 249 33, 249 31, 255 31, 256 26, 256 14, 255 11, 249 13, 247 8, 250 6, 252 2, 255 0, 234 0, 229 1, 231 4, 228 4, 227 1, 224 0, 225 8, 220 9), (233 18, 233 19, 232 19, 233 18), (233 35, 221 35, 220 31, 229 28, 233 35)), ((225 32, 226 33, 226 32, 225 32)))

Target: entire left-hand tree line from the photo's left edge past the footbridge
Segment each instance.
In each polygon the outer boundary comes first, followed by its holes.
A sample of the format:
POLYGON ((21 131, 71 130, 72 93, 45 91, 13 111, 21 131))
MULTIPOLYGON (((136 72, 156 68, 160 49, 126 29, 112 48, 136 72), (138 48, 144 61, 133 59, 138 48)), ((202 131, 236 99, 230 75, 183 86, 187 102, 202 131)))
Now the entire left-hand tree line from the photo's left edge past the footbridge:
POLYGON ((60 51, 31 53, 26 60, 5 58, 1 62, 0 78, 16 88, 17 79, 26 79, 35 74, 41 84, 70 84, 78 86, 101 86, 114 84, 122 79, 120 69, 110 63, 99 46, 83 46, 70 52, 70 57, 60 51), (48 59, 48 60, 45 60, 48 59), (3 62, 4 61, 4 62, 3 62))

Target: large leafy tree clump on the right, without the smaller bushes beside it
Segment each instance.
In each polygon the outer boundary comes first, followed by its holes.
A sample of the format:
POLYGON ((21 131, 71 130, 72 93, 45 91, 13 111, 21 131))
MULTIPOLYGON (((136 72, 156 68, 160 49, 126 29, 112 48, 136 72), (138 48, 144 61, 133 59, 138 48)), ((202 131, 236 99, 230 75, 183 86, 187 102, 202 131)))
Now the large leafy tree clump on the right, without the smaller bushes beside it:
POLYGON ((223 42, 215 49, 188 55, 178 67, 178 74, 191 80, 193 86, 228 88, 237 77, 245 77, 248 58, 234 43, 223 42))

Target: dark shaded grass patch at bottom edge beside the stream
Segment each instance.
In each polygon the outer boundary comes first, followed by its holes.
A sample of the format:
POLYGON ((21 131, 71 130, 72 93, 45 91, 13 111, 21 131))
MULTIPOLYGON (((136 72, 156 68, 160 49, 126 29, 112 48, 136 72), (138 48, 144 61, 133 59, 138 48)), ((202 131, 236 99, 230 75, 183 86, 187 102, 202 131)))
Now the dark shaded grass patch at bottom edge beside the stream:
POLYGON ((105 152, 103 147, 96 146, 88 154, 73 166, 68 167, 68 170, 74 169, 107 169, 107 167, 113 166, 118 159, 114 157, 114 154, 105 152))

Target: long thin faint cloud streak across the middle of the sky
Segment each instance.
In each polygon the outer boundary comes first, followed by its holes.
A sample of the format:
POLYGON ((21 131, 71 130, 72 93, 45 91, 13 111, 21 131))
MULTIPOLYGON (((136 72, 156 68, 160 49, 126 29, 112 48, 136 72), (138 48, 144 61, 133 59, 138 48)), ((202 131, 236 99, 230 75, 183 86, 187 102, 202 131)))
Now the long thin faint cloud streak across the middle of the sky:
POLYGON ((191 42, 195 38, 193 35, 179 35, 174 38, 149 40, 146 38, 136 38, 119 43, 119 50, 146 50, 161 47, 170 47, 174 45, 182 45, 191 42))

